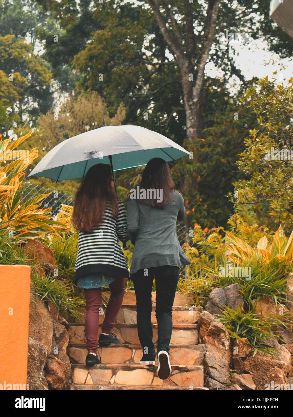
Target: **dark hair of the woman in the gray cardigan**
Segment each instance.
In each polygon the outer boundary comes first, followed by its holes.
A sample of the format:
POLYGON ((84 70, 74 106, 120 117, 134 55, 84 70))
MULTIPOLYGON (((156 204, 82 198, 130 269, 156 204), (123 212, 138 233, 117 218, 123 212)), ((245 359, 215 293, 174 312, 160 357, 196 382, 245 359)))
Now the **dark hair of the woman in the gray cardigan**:
MULTIPOLYGON (((145 190, 150 188, 160 189, 162 191, 162 201, 158 202, 156 199, 149 201, 152 207, 163 210, 166 204, 171 202, 171 192, 174 190, 174 183, 168 163, 162 158, 153 158, 148 161, 140 181, 140 188, 144 188, 145 190)), ((147 203, 147 201, 140 199, 139 202, 147 203)))

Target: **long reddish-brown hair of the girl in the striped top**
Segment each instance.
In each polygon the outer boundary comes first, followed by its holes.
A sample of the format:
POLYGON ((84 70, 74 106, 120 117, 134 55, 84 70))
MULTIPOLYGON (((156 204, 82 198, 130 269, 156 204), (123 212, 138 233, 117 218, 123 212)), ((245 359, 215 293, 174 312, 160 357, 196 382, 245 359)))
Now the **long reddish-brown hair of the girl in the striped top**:
POLYGON ((118 198, 112 187, 112 172, 109 165, 98 163, 89 169, 76 192, 72 224, 75 229, 90 233, 104 219, 107 205, 117 216, 118 198))

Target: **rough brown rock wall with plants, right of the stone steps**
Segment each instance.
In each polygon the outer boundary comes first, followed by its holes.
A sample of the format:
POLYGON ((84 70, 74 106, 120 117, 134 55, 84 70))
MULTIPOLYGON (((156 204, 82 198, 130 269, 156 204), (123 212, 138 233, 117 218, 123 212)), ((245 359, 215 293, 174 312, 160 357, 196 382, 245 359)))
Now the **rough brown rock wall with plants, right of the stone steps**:
MULTIPOLYGON (((275 306, 269 297, 262 297, 255 303, 256 312, 262 317, 292 311, 293 300, 292 276, 288 281, 288 304, 275 306)), ((275 354, 252 353, 246 338, 235 340, 229 337, 224 325, 212 314, 221 314, 225 305, 232 309, 241 306, 238 284, 211 291, 206 303, 206 310, 199 316, 199 342, 204 343, 206 353, 204 368, 206 387, 209 389, 258 389, 258 390, 292 390, 293 389, 293 332, 292 328, 284 330, 279 327, 279 337, 266 340, 268 347, 275 349, 275 354), (233 342, 233 343, 232 343, 233 342)), ((280 319, 282 316, 280 316, 280 319)))

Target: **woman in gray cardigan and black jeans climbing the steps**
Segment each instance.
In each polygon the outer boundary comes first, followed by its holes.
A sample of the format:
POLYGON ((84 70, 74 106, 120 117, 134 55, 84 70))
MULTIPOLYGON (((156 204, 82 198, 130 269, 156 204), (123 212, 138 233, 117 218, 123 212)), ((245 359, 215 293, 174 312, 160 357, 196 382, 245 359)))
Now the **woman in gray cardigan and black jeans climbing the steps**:
POLYGON ((127 233, 134 244, 130 274, 137 303, 138 337, 143 347, 140 364, 155 364, 151 323, 155 279, 158 377, 161 379, 171 374, 169 344, 179 268, 190 264, 176 234, 176 221, 185 216, 184 200, 174 190, 168 164, 161 158, 153 158, 145 167, 140 187, 133 190, 127 202, 127 233))

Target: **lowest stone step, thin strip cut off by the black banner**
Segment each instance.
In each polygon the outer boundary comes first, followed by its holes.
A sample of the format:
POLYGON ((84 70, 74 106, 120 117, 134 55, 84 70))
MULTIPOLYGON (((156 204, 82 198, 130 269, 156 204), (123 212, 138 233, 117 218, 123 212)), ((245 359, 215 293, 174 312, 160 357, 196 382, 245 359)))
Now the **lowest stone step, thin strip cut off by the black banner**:
POLYGON ((152 391, 189 391, 192 390, 200 390, 200 391, 209 391, 209 388, 206 387, 173 387, 171 385, 165 386, 154 386, 154 385, 79 385, 74 384, 74 389, 96 389, 99 391, 120 391, 120 390, 129 390, 129 391, 144 391, 144 390, 152 390, 152 391))

